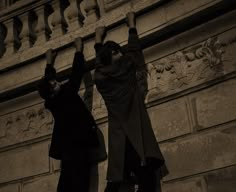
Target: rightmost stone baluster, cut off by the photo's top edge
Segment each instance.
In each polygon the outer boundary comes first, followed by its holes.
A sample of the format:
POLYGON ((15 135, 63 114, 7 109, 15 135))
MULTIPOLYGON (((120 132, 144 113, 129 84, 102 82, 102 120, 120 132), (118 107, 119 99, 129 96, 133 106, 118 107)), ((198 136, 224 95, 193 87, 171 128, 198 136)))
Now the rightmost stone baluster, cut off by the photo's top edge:
POLYGON ((84 9, 86 11, 85 25, 95 23, 98 18, 98 4, 96 0, 85 0, 84 9))

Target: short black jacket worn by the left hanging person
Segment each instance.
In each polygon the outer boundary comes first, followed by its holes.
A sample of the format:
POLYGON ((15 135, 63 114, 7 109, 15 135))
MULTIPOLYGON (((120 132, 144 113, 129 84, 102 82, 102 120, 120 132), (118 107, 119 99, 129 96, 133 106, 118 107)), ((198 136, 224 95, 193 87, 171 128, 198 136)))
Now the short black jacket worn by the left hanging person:
MULTIPOLYGON (((86 105, 78 95, 84 73, 84 56, 77 52, 74 57, 69 81, 61 85, 60 92, 52 99, 46 99, 45 107, 54 118, 49 156, 55 159, 80 156, 80 148, 98 144, 96 123, 86 105)), ((47 65, 45 77, 53 76, 55 69, 47 65), (52 74, 50 74, 52 73, 52 74)))

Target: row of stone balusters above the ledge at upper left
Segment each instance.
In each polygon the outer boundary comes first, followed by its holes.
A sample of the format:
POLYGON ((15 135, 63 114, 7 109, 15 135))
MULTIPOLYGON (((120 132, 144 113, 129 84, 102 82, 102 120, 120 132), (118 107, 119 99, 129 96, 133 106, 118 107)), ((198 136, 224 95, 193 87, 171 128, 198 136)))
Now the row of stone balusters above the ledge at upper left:
POLYGON ((28 4, 26 7, 21 5, 23 11, 16 7, 10 13, 0 15, 1 58, 75 31, 83 27, 84 18, 86 23, 98 20, 98 4, 95 0, 85 1, 87 16, 82 14, 80 5, 83 1, 79 0, 41 0, 34 6, 32 0, 25 2, 28 4))

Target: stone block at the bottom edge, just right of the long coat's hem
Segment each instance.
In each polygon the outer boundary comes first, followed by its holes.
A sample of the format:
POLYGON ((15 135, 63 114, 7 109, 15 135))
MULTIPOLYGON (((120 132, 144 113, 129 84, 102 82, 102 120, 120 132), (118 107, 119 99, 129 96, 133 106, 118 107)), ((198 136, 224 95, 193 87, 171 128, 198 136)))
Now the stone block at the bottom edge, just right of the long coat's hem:
POLYGON ((203 178, 188 179, 162 185, 163 192, 206 192, 206 182, 203 178))

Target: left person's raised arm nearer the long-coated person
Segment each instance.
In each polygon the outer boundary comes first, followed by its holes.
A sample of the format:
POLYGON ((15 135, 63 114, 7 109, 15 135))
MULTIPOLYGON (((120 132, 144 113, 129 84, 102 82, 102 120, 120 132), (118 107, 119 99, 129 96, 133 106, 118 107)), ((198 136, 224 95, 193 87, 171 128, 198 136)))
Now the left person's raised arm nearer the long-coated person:
POLYGON ((76 91, 79 90, 82 81, 83 74, 85 72, 85 60, 83 55, 83 42, 80 37, 76 38, 74 41, 75 45, 75 56, 72 64, 72 71, 69 77, 69 82, 75 88, 76 91))

